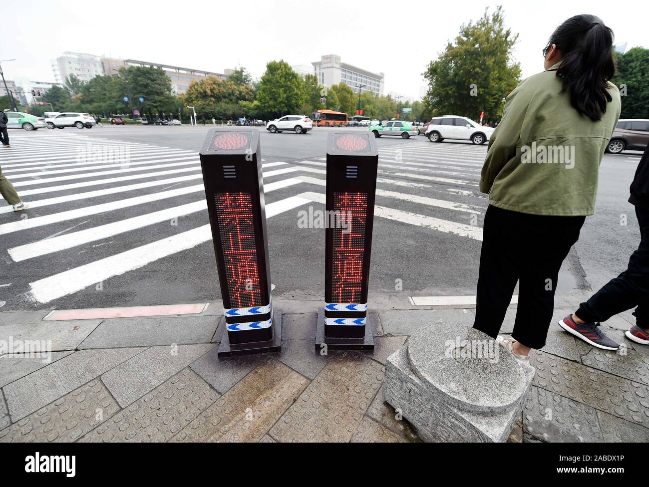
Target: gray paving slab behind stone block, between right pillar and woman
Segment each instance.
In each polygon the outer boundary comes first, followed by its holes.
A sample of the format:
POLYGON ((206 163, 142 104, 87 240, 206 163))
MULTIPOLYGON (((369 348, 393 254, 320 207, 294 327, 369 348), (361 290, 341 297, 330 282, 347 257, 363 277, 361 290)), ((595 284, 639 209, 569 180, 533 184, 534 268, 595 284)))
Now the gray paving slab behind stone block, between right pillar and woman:
POLYGON ((428 324, 462 329, 473 326, 475 320, 472 309, 401 309, 380 311, 379 315, 384 333, 409 336, 428 324))

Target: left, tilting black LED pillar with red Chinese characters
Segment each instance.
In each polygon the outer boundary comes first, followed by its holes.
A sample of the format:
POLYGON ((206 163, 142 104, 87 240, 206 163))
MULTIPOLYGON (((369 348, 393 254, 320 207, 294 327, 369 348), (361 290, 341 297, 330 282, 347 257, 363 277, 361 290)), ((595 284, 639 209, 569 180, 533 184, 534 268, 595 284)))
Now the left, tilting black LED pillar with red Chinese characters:
POLYGON ((257 130, 213 128, 201 149, 225 331, 219 357, 279 351, 257 130))

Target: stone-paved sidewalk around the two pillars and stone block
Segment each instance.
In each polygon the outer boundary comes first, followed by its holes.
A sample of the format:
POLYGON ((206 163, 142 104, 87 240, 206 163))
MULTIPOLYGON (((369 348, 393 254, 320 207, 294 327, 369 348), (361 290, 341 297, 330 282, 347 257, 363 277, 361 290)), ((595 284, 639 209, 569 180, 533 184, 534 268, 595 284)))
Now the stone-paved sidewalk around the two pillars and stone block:
MULTIPOLYGON (((511 442, 649 442, 649 347, 623 337, 630 313, 604 324, 626 355, 576 342, 554 323, 581 298, 557 300, 548 344, 530 357, 532 398, 511 442)), ((51 340, 53 350, 49 363, 0 358, 0 442, 417 442, 383 400, 386 358, 421 324, 471 326, 474 311, 389 302, 371 313, 373 354, 315 353, 322 303, 276 300, 282 352, 222 361, 221 303, 146 318, 0 312, 0 344, 51 340)), ((503 333, 514 315, 512 307, 503 333)))

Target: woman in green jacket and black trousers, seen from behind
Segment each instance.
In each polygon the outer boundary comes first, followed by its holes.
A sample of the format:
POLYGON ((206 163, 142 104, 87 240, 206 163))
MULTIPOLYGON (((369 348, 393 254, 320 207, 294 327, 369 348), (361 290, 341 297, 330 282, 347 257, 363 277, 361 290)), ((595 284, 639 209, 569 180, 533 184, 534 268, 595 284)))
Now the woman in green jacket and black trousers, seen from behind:
POLYGON ((620 116, 613 32, 602 19, 568 19, 543 58, 545 71, 509 93, 480 178, 489 207, 474 328, 498 337, 518 281, 513 333, 498 340, 521 360, 545 346, 559 268, 594 213, 599 165, 620 116))

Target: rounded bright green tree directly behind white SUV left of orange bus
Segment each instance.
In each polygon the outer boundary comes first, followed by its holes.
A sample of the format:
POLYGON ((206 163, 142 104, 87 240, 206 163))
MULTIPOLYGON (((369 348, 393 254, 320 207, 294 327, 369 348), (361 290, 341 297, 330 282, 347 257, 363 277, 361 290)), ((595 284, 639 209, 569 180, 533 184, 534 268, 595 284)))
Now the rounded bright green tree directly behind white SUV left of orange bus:
POLYGON ((296 112, 304 103, 302 78, 284 61, 271 61, 266 65, 257 101, 262 110, 273 115, 296 112))

